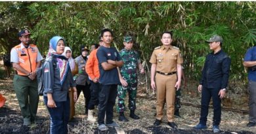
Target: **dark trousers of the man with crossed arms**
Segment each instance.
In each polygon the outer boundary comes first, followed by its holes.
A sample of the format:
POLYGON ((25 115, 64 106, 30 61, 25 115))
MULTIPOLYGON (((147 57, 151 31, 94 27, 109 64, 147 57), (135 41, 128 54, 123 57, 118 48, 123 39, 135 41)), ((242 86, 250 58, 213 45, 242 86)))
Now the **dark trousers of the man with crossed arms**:
POLYGON ((101 90, 98 96, 98 125, 104 124, 106 113, 106 124, 113 122, 113 109, 116 103, 117 84, 100 85, 101 90))

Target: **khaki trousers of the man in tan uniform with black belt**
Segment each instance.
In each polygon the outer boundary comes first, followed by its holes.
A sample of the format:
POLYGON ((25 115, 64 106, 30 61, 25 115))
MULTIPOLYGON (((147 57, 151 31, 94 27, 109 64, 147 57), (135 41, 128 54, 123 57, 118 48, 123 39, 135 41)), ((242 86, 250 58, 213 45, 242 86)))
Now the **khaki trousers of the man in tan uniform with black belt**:
POLYGON ((166 100, 167 120, 174 122, 175 84, 177 75, 161 75, 156 73, 156 119, 163 118, 163 104, 166 100))

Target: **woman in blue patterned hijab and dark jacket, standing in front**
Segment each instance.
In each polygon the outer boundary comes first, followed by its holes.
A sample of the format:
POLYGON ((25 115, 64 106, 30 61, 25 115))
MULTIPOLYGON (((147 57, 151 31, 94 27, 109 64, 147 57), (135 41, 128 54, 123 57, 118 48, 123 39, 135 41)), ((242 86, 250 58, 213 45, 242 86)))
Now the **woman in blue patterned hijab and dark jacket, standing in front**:
POLYGON ((62 56, 65 41, 55 36, 50 40, 49 52, 44 63, 43 100, 51 116, 51 134, 68 133, 70 99, 77 99, 77 90, 70 70, 70 64, 62 56), (68 90, 72 87, 74 98, 69 98, 68 90))

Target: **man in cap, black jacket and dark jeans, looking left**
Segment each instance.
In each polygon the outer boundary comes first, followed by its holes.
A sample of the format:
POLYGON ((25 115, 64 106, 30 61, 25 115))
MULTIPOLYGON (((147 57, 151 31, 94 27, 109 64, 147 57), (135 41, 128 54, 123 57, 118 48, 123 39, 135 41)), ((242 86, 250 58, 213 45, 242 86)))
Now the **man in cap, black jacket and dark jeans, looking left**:
POLYGON ((230 71, 230 58, 223 52, 223 39, 213 35, 208 41, 210 50, 206 56, 198 92, 202 92, 200 122, 195 129, 206 129, 209 102, 213 100, 213 133, 219 133, 221 122, 221 99, 226 93, 230 71))

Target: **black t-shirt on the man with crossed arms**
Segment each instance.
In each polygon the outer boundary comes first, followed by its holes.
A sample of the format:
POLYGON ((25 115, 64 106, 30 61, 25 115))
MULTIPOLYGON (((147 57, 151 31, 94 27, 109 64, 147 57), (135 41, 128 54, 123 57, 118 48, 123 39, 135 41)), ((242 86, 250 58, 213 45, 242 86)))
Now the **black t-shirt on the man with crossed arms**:
POLYGON ((100 84, 110 85, 110 84, 120 84, 119 75, 117 68, 105 71, 101 63, 108 62, 108 59, 112 59, 114 61, 120 61, 121 57, 117 52, 116 48, 110 47, 106 48, 104 46, 100 46, 97 51, 98 58, 98 69, 100 70, 100 84))

